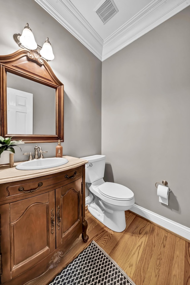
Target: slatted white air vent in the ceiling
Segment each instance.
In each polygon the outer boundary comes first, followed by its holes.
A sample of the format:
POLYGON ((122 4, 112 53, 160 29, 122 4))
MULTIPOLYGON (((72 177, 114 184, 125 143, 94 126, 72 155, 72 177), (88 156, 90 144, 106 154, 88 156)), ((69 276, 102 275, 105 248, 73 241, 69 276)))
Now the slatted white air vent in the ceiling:
POLYGON ((117 12, 118 8, 113 0, 104 1, 103 4, 96 10, 96 13, 104 24, 107 23, 107 21, 109 21, 117 12))

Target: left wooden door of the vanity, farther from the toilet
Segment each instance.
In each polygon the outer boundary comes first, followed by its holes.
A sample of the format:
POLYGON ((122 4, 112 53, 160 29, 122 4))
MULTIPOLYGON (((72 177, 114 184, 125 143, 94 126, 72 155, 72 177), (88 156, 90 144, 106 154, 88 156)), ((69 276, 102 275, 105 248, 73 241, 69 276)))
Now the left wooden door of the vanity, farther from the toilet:
POLYGON ((55 190, 1 205, 0 215, 3 284, 55 250, 55 190))

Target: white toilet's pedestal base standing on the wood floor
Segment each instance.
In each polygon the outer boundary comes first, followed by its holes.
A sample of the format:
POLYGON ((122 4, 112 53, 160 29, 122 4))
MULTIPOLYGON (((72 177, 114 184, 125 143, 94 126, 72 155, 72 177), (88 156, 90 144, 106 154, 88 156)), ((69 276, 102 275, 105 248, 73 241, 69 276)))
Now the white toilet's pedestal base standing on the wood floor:
POLYGON ((126 228, 125 211, 113 211, 113 213, 108 213, 96 203, 88 205, 88 211, 98 221, 114 232, 123 232, 126 228))

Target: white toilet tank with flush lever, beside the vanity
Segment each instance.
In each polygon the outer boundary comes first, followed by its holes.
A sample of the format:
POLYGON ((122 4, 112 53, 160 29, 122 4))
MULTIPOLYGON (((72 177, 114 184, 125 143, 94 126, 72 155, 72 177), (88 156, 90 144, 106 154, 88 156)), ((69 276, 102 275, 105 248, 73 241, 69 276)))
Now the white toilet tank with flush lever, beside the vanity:
POLYGON ((85 182, 93 183, 101 178, 104 178, 105 171, 105 155, 91 155, 81 157, 88 160, 85 164, 85 182))

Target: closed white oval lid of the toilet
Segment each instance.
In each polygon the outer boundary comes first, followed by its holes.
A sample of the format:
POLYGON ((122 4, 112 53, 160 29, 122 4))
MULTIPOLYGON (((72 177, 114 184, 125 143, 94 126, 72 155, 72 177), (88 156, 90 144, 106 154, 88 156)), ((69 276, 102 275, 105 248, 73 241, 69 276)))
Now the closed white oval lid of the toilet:
POLYGON ((112 182, 105 182, 98 186, 99 192, 105 197, 114 200, 131 200, 134 193, 124 185, 112 182))

